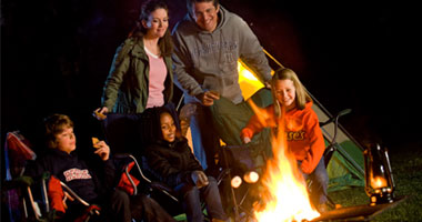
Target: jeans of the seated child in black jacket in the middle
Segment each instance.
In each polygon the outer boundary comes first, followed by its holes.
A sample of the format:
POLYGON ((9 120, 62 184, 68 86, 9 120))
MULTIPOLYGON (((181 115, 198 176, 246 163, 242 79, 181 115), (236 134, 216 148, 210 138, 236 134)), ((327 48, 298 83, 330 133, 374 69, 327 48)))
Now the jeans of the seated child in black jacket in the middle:
POLYGON ((201 198, 207 204, 207 212, 212 219, 227 220, 223 210, 217 180, 208 176, 209 184, 198 189, 191 184, 180 184, 174 190, 183 196, 183 208, 189 222, 204 220, 201 209, 201 198))

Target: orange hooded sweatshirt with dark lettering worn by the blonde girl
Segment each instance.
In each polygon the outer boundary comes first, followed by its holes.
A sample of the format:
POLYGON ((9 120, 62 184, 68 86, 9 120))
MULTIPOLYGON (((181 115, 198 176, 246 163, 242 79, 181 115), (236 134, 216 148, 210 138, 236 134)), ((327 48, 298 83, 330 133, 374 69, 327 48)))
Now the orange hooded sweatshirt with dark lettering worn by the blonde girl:
MULTIPOLYGON (((274 115, 274 107, 270 105, 260 114, 264 121, 259 121, 253 115, 241 132, 241 137, 252 138, 263 128, 274 128, 278 122, 274 115)), ((289 149, 297 160, 302 161, 303 173, 311 173, 321 160, 325 150, 324 138, 316 113, 312 110, 312 102, 308 102, 303 110, 293 109, 285 113, 285 133, 289 149)))

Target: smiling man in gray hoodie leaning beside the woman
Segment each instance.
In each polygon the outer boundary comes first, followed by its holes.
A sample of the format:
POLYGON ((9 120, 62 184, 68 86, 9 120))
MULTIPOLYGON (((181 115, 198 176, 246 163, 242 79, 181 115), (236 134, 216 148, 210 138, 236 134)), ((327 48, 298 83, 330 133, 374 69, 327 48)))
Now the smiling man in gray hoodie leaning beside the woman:
MULTIPOLYGON (((187 16, 172 32, 174 82, 184 93, 184 104, 195 110, 190 118, 193 150, 207 169, 214 164, 219 139, 228 145, 242 144, 240 131, 253 114, 242 97, 238 60, 263 83, 271 79, 271 68, 248 23, 219 0, 187 0, 187 16)), ((267 105, 271 92, 260 90, 252 99, 267 105)))

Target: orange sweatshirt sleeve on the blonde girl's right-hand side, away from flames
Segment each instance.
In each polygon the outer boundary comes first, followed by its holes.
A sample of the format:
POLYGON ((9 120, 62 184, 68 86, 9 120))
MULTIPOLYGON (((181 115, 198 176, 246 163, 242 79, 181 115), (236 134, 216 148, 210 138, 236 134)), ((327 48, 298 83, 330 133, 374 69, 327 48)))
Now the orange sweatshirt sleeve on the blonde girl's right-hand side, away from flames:
POLYGON ((301 169, 303 173, 310 174, 316 168, 325 150, 325 142, 322 135, 316 113, 311 111, 304 122, 307 134, 309 135, 310 149, 305 159, 302 161, 301 169))

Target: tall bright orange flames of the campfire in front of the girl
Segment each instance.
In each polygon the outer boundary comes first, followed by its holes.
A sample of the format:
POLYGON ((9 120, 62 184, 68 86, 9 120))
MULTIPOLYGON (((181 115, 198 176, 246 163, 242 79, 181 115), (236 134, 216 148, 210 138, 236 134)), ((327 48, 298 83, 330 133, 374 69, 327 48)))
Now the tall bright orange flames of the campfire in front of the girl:
MULTIPOLYGON (((259 121, 268 121, 265 112, 253 102, 249 102, 259 117, 259 121)), ((262 176, 265 194, 262 196, 264 206, 254 209, 258 221, 302 221, 312 220, 320 215, 312 209, 307 191, 307 182, 298 170, 294 154, 288 149, 284 133, 284 110, 277 122, 278 130, 273 131, 271 144, 273 159, 267 162, 265 174, 262 176)), ((289 124, 289 123, 288 123, 289 124)), ((267 125, 267 124, 265 124, 267 125)))

